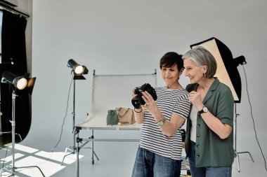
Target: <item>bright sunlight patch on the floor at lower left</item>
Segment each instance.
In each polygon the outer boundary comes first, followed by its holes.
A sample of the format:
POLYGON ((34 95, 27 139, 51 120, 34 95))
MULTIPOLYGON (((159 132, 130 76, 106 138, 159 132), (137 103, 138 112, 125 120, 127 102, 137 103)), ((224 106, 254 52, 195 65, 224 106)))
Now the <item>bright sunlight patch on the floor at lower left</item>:
MULTIPOLYGON (((6 149, 2 149, 6 150, 6 149)), ((15 153, 15 176, 34 176, 42 177, 44 176, 53 176, 58 171, 67 167, 68 164, 76 162, 77 155, 69 154, 64 152, 45 152, 42 150, 37 150, 27 146, 22 146, 15 144, 15 151, 20 153, 15 153), (64 163, 63 163, 64 159, 64 163), (63 165, 61 165, 63 164, 63 165)), ((79 159, 84 157, 79 155, 79 159)), ((9 166, 9 170, 12 169, 12 155, 11 150, 8 150, 8 156, 1 159, 1 166, 9 166), (11 165, 11 167, 10 167, 11 165)), ((11 173, 6 170, 1 170, 1 176, 10 176, 11 173)))

